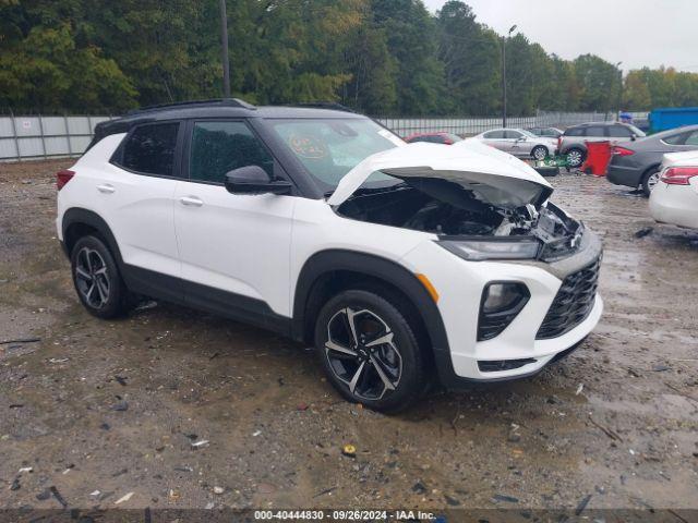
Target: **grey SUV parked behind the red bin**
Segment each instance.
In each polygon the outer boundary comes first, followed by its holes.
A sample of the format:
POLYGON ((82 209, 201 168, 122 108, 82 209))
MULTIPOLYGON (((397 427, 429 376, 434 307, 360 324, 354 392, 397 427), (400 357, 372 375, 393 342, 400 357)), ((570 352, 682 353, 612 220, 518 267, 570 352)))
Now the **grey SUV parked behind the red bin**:
POLYGON ((646 134, 629 123, 590 122, 567 127, 557 138, 557 149, 570 168, 581 167, 587 158, 586 142, 610 141, 612 145, 643 138, 646 134))

